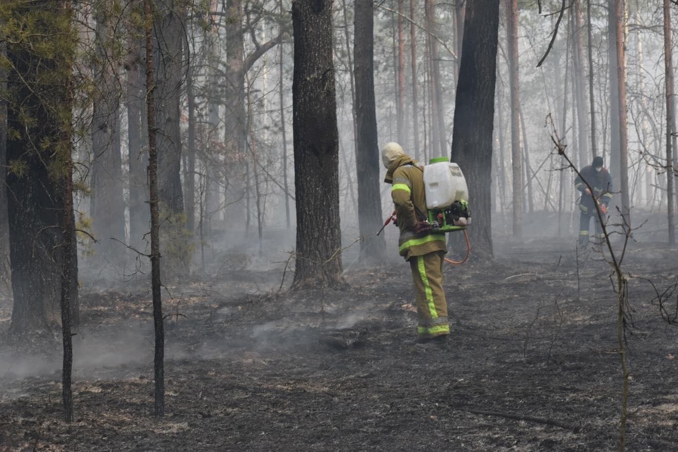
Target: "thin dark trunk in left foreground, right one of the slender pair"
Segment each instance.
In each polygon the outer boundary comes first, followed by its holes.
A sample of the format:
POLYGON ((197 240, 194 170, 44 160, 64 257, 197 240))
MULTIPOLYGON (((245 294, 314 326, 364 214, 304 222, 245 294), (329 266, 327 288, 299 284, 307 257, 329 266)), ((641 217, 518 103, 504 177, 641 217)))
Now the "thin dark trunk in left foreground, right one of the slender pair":
POLYGON ((153 375, 155 379, 154 412, 165 415, 165 327, 160 292, 160 193, 158 184, 157 129, 155 127, 155 93, 159 84, 155 79, 154 48, 152 30, 155 0, 144 0, 144 22, 146 24, 146 112, 148 115, 148 186, 151 206, 151 294, 153 297, 153 327, 155 329, 155 354, 153 375))

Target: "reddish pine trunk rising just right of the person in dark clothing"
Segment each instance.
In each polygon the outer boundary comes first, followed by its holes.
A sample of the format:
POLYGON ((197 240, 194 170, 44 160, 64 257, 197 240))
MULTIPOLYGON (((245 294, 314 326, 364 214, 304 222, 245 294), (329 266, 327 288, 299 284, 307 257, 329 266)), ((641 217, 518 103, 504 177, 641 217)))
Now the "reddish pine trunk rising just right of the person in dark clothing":
POLYGON ((616 18, 616 61, 617 96, 619 115, 619 185, 622 194, 622 215, 631 226, 631 205, 629 203, 629 138, 626 128, 626 64, 624 59, 624 14, 622 0, 615 0, 616 18))

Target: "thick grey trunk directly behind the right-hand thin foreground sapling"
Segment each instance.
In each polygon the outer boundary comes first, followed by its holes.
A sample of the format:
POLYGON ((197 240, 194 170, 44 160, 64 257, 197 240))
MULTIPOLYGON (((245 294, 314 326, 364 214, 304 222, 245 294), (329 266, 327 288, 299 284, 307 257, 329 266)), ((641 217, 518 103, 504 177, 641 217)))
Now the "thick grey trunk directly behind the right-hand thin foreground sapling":
MULTIPOLYGON (((162 268, 168 278, 188 274, 188 243, 184 234, 184 198, 181 187, 180 95, 184 27, 179 0, 155 3, 153 60, 157 127, 158 197, 162 268)), ((149 125, 150 128, 150 125, 149 125)))

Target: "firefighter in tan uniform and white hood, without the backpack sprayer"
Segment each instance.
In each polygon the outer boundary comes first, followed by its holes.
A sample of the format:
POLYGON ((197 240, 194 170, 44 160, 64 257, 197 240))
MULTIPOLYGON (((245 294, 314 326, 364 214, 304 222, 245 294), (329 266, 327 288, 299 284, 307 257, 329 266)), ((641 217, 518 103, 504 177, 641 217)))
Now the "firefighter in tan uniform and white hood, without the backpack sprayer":
POLYGON ((445 234, 433 233, 425 221, 424 167, 393 142, 382 148, 382 163, 387 169, 384 182, 392 184, 391 197, 400 228, 399 252, 410 262, 414 280, 418 337, 406 343, 444 349, 450 335, 442 274, 447 245, 445 234))

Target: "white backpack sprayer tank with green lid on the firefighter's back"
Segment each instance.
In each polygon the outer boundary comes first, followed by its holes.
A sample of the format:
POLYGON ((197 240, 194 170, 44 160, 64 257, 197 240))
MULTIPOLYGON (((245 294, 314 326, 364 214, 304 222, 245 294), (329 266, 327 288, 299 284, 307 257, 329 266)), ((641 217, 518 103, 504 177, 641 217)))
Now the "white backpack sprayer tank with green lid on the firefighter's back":
POLYGON ((447 157, 431 159, 424 166, 424 186, 428 222, 435 230, 464 230, 471 224, 468 187, 464 173, 447 157))

